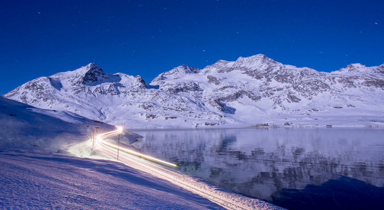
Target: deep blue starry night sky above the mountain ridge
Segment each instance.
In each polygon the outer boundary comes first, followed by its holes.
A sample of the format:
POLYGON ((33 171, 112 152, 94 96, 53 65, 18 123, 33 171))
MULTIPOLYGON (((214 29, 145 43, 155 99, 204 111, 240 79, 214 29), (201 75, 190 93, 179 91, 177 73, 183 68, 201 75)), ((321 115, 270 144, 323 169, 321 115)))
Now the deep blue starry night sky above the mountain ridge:
POLYGON ((0 95, 95 62, 146 83, 265 54, 336 71, 384 63, 384 1, 1 1, 0 95))

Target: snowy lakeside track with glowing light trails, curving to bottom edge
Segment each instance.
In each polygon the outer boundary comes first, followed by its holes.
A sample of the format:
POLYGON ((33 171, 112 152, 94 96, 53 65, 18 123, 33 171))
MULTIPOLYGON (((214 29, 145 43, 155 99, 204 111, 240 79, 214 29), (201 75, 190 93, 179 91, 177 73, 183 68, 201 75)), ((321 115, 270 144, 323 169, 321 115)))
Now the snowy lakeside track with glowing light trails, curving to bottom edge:
POLYGON ((116 131, 103 133, 96 137, 97 149, 113 157, 118 156, 119 161, 134 169, 168 180, 190 192, 216 202, 227 209, 284 209, 259 199, 252 199, 226 191, 223 188, 205 182, 204 180, 181 174, 172 170, 172 167, 177 167, 176 164, 106 142, 105 139, 118 135, 123 131, 123 128, 117 128, 116 131))

